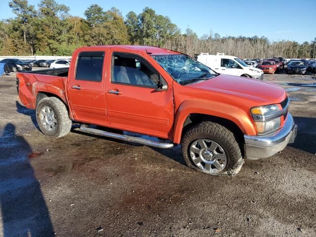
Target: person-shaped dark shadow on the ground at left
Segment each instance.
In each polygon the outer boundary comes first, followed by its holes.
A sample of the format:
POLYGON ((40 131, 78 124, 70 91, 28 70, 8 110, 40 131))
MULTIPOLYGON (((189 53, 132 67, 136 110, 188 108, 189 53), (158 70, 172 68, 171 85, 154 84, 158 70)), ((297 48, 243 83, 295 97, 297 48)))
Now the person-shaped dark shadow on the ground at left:
POLYGON ((32 149, 12 123, 0 137, 0 209, 3 237, 54 237, 48 208, 29 162, 32 149))

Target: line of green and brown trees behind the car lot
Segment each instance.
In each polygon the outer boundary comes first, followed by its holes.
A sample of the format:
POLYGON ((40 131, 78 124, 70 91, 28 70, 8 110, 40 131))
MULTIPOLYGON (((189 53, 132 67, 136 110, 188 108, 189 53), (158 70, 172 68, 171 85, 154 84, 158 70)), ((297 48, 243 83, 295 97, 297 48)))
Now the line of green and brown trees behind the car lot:
POLYGON ((210 32, 201 37, 186 29, 182 34, 168 16, 145 7, 125 17, 115 7, 97 4, 84 11, 84 18, 69 14, 70 8, 55 0, 40 0, 38 9, 28 0, 11 0, 14 18, 0 21, 0 55, 71 55, 80 46, 142 44, 164 47, 190 56, 200 52, 224 52, 240 58, 316 58, 316 38, 271 42, 266 37, 221 37, 210 32))

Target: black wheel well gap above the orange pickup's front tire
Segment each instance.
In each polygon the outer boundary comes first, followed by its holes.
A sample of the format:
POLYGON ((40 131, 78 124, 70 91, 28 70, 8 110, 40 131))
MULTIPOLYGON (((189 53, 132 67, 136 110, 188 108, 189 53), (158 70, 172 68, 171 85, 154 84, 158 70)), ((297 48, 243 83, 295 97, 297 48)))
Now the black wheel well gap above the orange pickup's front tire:
POLYGON ((235 139, 237 141, 237 143, 240 146, 240 150, 241 150, 241 155, 244 155, 244 149, 243 149, 243 144, 244 144, 244 137, 243 137, 243 132, 240 130, 240 128, 237 126, 237 124, 229 119, 226 118, 220 118, 217 116, 211 116, 211 115, 203 115, 203 114, 190 114, 184 124, 183 124, 183 128, 182 128, 182 133, 181 133, 181 140, 182 137, 184 136, 184 134, 194 125, 196 125, 197 123, 200 123, 202 121, 211 121, 211 122, 216 122, 226 128, 228 128, 230 131, 233 132, 235 139))

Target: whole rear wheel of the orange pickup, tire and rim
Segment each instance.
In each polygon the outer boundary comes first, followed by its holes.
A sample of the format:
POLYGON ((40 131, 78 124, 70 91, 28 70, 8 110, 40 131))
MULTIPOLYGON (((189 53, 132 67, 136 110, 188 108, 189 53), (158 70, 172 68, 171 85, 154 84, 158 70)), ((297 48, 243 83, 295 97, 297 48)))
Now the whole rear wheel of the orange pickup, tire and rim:
POLYGON ((36 119, 41 132, 48 137, 65 136, 72 125, 65 104, 56 97, 40 100, 36 107, 36 119))

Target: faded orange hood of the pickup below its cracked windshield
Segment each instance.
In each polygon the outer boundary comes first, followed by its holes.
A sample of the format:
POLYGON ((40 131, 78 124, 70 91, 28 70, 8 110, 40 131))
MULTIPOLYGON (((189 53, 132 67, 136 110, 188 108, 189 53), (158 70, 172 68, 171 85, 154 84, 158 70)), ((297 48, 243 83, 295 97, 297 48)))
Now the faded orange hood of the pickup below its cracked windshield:
MULTIPOLYGON (((259 103, 258 105, 276 104, 286 97, 283 88, 270 82, 221 74, 215 78, 188 84, 192 88, 231 95, 230 99, 243 98, 259 103)), ((228 99, 228 98, 227 98, 228 99)))

